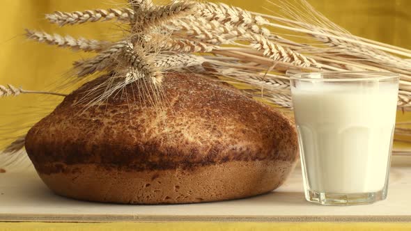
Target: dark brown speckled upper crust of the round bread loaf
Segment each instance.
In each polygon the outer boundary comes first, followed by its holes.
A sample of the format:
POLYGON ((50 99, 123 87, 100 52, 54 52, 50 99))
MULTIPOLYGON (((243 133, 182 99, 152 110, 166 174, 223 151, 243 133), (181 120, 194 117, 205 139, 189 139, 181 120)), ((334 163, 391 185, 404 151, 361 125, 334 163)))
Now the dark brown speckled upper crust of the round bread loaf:
POLYGON ((29 131, 26 150, 40 173, 61 172, 61 166, 44 165, 52 162, 166 170, 297 159, 290 120, 235 90, 173 73, 163 83, 168 104, 161 113, 148 100, 139 101, 137 86, 84 111, 79 99, 100 81, 66 97, 29 131))

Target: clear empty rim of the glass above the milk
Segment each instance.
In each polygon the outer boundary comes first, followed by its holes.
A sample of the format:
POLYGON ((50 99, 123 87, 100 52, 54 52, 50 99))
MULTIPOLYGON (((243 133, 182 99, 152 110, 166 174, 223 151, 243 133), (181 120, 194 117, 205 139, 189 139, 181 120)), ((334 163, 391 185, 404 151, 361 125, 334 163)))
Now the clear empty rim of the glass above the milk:
POLYGON ((293 74, 291 81, 324 81, 324 82, 361 82, 361 81, 393 81, 399 74, 392 72, 336 71, 336 72, 304 72, 293 74), (355 77, 359 75, 359 77, 355 77), (318 77, 320 76, 320 77, 318 77), (330 78, 323 78, 324 76, 330 78), (333 78, 334 77, 334 78, 333 78), (340 78, 336 78, 340 77, 340 78))

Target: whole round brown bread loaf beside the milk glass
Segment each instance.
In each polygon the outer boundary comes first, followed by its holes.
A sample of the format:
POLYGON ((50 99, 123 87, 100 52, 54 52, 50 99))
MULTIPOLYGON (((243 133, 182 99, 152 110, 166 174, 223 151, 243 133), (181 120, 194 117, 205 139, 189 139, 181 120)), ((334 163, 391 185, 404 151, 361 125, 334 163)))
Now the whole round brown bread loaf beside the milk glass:
POLYGON ((297 160, 295 127, 237 90, 171 73, 162 104, 137 84, 86 108, 99 78, 26 136, 41 179, 61 196, 171 204, 244 198, 280 186, 297 160))

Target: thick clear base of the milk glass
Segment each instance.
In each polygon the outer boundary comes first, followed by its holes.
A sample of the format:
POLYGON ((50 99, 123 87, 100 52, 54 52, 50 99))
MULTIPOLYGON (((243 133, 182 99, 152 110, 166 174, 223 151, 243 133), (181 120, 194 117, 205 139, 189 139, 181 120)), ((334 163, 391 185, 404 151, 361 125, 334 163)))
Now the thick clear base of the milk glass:
POLYGON ((387 190, 374 193, 325 193, 307 190, 305 198, 320 205, 367 205, 385 200, 387 190))

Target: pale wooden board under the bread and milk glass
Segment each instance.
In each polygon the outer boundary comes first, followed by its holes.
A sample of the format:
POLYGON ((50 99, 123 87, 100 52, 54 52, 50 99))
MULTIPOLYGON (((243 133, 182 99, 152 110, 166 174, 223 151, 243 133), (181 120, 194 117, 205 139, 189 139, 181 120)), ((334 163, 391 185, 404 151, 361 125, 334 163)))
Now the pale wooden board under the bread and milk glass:
POLYGON ((389 194, 373 205, 307 202, 300 168, 277 191, 192 205, 114 205, 54 195, 36 173, 0 174, 0 221, 411 221, 411 167, 391 168, 389 194))

